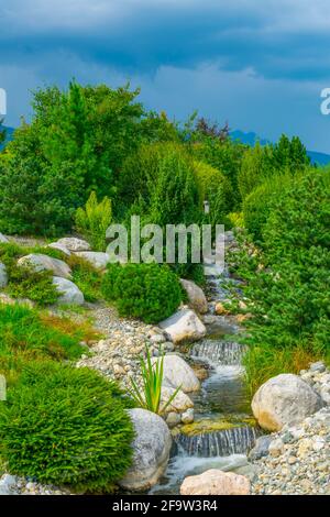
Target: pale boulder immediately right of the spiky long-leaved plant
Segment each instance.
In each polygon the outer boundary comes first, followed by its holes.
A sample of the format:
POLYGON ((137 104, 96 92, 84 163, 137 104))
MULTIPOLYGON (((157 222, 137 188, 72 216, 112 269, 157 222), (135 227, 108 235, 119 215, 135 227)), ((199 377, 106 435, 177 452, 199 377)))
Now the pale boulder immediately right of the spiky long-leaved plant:
MULTIPOLYGON (((155 362, 157 360, 153 359, 152 361, 155 362)), ((200 383, 194 370, 178 355, 165 355, 163 366, 163 382, 165 386, 180 387, 185 393, 197 392, 200 388, 200 383)))

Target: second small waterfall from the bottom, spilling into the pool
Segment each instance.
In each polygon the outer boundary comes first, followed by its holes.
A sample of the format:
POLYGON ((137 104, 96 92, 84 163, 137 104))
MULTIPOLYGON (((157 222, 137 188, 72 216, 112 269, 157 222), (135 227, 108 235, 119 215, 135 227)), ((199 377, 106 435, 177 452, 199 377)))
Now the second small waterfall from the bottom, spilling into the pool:
POLYGON ((246 346, 233 341, 204 340, 191 349, 191 356, 213 366, 240 365, 246 346))

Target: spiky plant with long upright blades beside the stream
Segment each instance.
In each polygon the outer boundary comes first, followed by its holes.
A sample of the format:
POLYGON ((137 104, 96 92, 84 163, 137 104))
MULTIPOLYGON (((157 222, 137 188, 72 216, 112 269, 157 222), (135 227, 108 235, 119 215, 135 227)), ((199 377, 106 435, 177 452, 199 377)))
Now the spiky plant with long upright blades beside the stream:
POLYGON ((145 361, 143 358, 140 359, 140 369, 143 383, 142 393, 136 382, 131 378, 132 389, 130 394, 139 407, 155 413, 156 415, 163 415, 170 403, 175 399, 180 389, 180 386, 175 389, 166 403, 161 405, 164 376, 164 354, 161 354, 161 356, 158 356, 153 363, 148 348, 145 346, 145 361))

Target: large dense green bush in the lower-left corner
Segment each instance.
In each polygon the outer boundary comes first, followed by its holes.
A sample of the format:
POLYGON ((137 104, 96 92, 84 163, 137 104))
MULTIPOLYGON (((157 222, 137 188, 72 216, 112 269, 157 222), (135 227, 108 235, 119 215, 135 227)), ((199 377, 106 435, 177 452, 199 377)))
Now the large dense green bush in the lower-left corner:
POLYGON ((88 369, 29 363, 0 405, 12 474, 109 492, 130 466, 132 422, 117 385, 88 369))

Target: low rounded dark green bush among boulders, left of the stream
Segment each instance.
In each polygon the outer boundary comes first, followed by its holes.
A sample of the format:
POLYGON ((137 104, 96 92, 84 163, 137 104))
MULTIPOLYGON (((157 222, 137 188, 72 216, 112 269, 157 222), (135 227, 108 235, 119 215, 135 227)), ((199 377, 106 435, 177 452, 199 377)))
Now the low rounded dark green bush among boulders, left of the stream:
POLYGON ((167 265, 111 264, 103 276, 106 299, 114 301, 120 316, 157 323, 170 316, 182 301, 177 275, 167 265))

